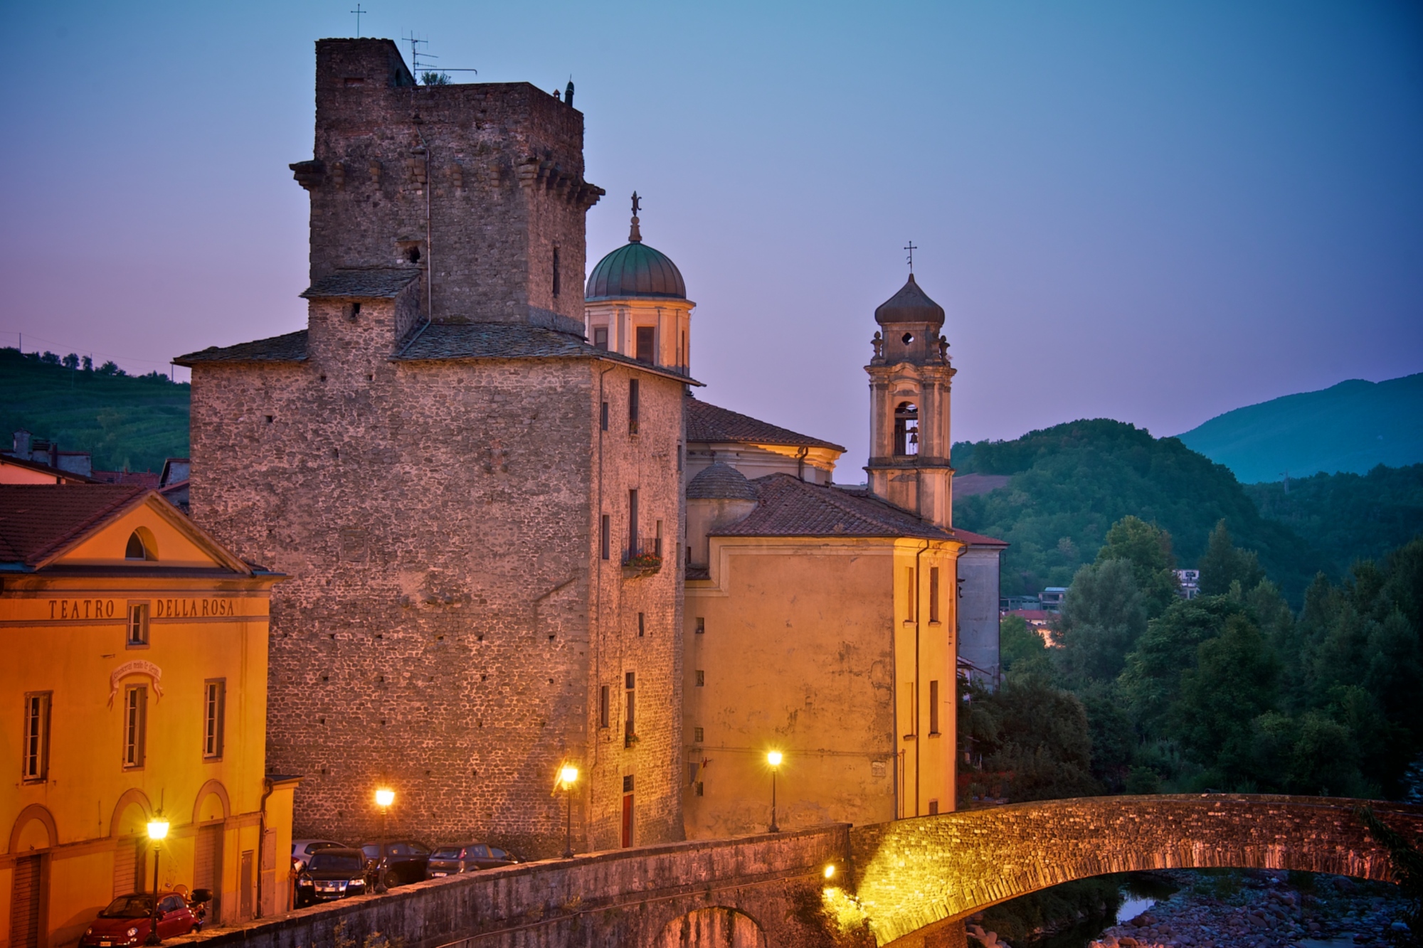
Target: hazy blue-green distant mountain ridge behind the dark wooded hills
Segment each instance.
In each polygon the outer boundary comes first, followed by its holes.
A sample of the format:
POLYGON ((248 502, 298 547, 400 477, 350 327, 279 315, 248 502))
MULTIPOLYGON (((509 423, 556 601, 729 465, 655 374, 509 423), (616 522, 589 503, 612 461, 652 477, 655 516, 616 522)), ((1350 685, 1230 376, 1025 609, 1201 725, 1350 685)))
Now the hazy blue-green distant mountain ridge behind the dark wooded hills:
POLYGON ((1242 484, 1423 461, 1423 373, 1271 399, 1177 436, 1242 484))

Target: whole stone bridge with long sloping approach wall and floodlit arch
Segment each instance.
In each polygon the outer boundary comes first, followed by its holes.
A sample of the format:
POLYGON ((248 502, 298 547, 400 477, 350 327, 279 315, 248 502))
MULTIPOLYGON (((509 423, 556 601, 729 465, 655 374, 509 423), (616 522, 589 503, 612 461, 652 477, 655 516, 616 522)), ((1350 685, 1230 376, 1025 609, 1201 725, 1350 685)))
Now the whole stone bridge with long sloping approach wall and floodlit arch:
MULTIPOLYGON (((431 880, 179 941, 255 948, 832 948, 963 944, 962 920, 1049 885, 1154 868, 1389 881, 1356 800, 1093 797, 697 840, 431 880), (827 867, 834 871, 827 877, 827 867), (379 938, 373 938, 380 932, 379 938)), ((1405 834, 1423 807, 1375 803, 1405 834)))

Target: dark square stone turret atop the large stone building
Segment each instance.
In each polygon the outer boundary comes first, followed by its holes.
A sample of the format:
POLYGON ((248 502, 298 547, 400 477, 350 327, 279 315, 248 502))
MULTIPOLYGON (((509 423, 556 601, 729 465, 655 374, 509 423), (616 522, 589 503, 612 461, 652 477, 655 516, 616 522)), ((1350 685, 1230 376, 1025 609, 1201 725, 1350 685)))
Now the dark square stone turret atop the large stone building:
POLYGON ((416 249, 437 322, 581 327, 583 218, 602 194, 583 181, 582 114, 528 83, 410 84, 390 40, 316 50, 314 165, 297 175, 312 279, 416 249))

